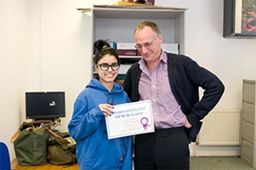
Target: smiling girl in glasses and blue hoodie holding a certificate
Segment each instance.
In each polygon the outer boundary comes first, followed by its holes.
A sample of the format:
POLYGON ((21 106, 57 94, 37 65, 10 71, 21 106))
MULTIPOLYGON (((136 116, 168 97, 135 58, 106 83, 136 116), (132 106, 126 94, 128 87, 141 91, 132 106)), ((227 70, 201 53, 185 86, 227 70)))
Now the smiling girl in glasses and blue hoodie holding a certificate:
MULTIPOLYGON (((117 78, 120 61, 117 51, 108 42, 94 42, 94 58, 99 80, 92 79, 77 96, 68 129, 77 140, 79 169, 132 169, 133 137, 108 139, 105 116, 111 116, 114 105, 128 103, 117 78)), ((118 128, 118 127, 117 127, 118 128)))

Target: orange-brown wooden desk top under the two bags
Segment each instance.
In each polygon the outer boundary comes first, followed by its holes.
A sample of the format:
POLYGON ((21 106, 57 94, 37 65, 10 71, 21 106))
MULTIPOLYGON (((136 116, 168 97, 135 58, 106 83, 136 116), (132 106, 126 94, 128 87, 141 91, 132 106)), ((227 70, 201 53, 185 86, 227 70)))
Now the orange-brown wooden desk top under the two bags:
POLYGON ((77 170, 78 164, 67 166, 67 165, 53 165, 51 163, 47 163, 46 165, 37 165, 37 166, 20 166, 17 159, 15 158, 11 161, 11 169, 18 170, 77 170))

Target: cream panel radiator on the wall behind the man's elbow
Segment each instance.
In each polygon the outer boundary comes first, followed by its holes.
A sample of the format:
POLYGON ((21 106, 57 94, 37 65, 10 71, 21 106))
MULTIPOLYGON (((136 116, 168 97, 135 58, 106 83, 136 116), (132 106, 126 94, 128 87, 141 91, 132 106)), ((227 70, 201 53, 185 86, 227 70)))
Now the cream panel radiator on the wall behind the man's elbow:
POLYGON ((198 145, 241 144, 241 110, 213 110, 202 122, 198 145))

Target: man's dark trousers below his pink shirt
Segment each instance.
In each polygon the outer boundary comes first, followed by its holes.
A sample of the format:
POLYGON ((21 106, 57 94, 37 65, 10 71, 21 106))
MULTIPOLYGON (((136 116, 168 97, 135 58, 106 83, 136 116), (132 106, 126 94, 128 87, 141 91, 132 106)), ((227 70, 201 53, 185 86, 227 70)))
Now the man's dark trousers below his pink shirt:
POLYGON ((185 127, 155 129, 135 136, 134 169, 190 169, 185 127))

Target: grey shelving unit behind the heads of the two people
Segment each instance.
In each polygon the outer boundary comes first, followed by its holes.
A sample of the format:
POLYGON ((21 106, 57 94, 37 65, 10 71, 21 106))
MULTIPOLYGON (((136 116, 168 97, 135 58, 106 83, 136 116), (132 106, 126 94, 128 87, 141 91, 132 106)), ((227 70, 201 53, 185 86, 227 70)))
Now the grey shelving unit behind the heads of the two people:
MULTIPOLYGON (((160 27, 162 43, 178 43, 179 53, 185 53, 184 20, 186 8, 162 8, 118 5, 94 5, 94 8, 77 8, 91 17, 92 56, 93 44, 98 39, 110 42, 134 43, 134 29, 141 20, 152 20, 160 27)), ((138 56, 120 56, 121 64, 133 64, 138 56)), ((94 72, 94 71, 92 71, 94 72)), ((125 72, 120 72, 125 75, 125 72)))

